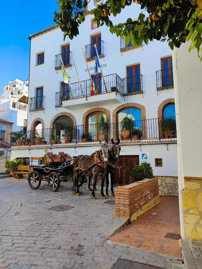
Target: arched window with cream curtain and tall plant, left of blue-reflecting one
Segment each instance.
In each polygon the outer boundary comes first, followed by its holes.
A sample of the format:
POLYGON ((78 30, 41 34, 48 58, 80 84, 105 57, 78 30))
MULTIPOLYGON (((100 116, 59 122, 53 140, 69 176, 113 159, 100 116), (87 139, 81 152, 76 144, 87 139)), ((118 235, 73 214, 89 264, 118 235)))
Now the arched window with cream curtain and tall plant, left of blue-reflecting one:
POLYGON ((88 141, 104 141, 107 135, 107 116, 96 112, 87 117, 88 141))

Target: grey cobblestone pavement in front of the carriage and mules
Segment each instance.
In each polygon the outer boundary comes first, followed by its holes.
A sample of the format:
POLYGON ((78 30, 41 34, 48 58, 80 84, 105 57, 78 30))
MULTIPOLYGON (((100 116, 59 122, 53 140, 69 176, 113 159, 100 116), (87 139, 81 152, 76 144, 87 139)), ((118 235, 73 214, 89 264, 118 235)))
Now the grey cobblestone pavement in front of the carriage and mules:
POLYGON ((184 268, 180 259, 112 244, 107 239, 125 220, 114 217, 114 205, 104 204, 99 188, 97 200, 87 185, 81 191, 72 195, 71 182, 51 192, 43 181, 32 190, 25 180, 0 180, 0 268, 112 268, 119 258, 184 268), (73 208, 50 210, 62 204, 73 208))

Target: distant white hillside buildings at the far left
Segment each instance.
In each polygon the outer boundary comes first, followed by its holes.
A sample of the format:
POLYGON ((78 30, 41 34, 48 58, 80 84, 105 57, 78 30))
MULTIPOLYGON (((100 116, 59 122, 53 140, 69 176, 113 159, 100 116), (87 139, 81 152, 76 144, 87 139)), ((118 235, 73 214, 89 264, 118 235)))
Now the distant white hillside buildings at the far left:
POLYGON ((27 123, 28 84, 29 80, 11 80, 0 97, 0 119, 13 122, 13 132, 27 123))

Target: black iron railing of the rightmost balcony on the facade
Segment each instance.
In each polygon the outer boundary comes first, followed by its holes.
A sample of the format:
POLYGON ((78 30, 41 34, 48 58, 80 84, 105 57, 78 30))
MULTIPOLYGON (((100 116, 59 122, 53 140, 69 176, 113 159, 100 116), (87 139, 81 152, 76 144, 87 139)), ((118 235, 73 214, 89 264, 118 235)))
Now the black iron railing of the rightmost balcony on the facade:
POLYGON ((156 71, 156 87, 164 88, 164 87, 173 87, 173 71, 172 68, 167 68, 163 70, 156 71))

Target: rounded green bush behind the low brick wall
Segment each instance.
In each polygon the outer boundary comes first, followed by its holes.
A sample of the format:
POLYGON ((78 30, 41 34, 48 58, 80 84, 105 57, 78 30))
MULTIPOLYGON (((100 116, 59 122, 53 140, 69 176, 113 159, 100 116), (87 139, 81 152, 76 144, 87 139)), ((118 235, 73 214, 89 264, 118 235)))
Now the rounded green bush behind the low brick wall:
POLYGON ((152 178, 153 170, 150 163, 141 163, 140 165, 135 165, 132 169, 132 178, 135 181, 143 180, 143 178, 152 178))

